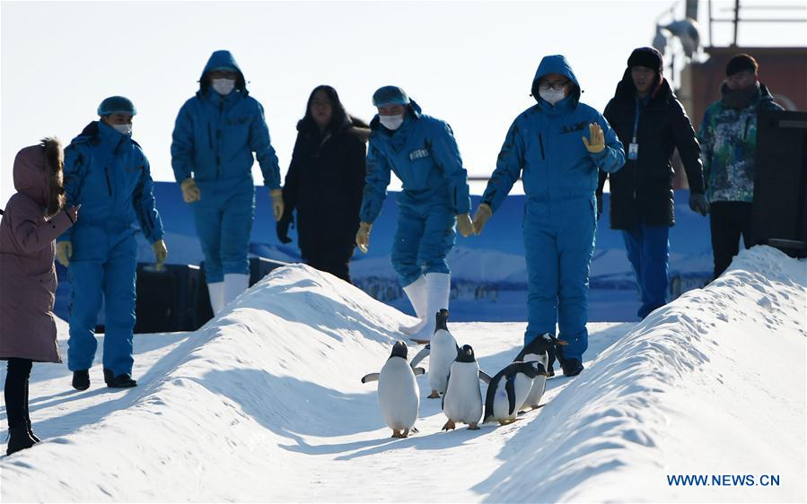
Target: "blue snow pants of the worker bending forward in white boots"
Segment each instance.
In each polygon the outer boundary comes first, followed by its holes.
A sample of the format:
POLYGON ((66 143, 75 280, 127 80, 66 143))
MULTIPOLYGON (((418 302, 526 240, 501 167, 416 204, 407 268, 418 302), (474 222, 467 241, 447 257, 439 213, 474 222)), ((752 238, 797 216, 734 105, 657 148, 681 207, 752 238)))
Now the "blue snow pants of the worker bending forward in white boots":
POLYGON ((398 230, 392 243, 392 267, 406 287, 421 274, 451 273, 445 256, 454 247, 457 217, 447 204, 414 204, 399 195, 398 230))

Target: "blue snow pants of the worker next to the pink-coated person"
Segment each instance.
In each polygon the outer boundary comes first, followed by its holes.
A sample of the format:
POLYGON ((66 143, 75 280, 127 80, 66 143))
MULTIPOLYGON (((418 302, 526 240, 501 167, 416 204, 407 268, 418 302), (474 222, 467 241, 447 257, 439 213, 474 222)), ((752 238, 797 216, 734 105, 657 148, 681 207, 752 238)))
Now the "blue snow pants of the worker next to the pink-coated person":
POLYGON ((98 348, 95 325, 104 303, 103 367, 113 376, 132 374, 135 328, 135 230, 103 223, 76 226, 73 257, 67 268, 73 287, 67 369, 90 369, 98 348), (103 296, 101 298, 101 296, 103 296))

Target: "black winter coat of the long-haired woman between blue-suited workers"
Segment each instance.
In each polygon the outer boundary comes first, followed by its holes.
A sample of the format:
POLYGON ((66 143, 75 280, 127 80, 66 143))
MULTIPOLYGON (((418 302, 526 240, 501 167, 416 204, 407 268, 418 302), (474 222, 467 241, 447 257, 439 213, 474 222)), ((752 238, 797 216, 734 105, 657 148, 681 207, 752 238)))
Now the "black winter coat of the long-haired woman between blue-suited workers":
MULTIPOLYGON (((319 128, 297 125, 297 141, 283 187, 284 216, 292 222, 297 211, 297 236, 303 256, 311 248, 348 247, 355 241, 364 193, 366 148, 347 131, 364 126, 358 119, 323 138, 319 128)), ((279 228, 278 228, 279 229, 279 228)))

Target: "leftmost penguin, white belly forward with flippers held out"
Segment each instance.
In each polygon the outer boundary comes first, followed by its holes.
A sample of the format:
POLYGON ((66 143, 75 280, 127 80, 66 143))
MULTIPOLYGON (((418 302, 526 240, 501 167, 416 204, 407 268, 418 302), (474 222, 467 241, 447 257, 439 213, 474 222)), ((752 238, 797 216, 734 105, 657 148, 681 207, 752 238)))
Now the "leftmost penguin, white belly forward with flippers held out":
POLYGON ((420 409, 420 396, 416 374, 423 374, 423 368, 409 367, 407 343, 398 341, 392 346, 390 358, 384 363, 380 373, 371 373, 362 378, 362 383, 378 380, 378 405, 384 421, 392 430, 393 438, 406 438, 412 430, 420 409))

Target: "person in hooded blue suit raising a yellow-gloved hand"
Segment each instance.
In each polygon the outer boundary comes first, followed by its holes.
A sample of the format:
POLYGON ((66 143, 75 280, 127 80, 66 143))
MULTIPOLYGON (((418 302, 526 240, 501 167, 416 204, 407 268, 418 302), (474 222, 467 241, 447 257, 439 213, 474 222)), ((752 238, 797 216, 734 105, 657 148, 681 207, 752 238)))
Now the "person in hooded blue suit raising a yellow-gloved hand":
POLYGON ((557 324, 557 337, 566 343, 557 346, 563 372, 575 376, 583 370, 588 348, 598 169, 617 171, 625 153, 608 121, 580 102, 580 84, 564 56, 541 60, 532 96, 538 103, 516 117, 507 132, 474 213, 474 228, 481 232, 522 176, 528 275, 524 343, 545 333, 555 335, 557 324))

